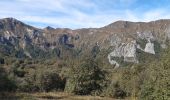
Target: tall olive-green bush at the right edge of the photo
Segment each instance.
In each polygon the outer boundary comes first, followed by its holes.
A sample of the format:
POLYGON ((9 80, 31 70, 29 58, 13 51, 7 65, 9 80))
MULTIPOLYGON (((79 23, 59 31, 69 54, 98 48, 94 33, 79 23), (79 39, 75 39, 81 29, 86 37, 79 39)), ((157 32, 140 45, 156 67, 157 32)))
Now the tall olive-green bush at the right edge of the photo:
POLYGON ((170 98, 170 51, 159 62, 152 62, 145 70, 140 98, 145 100, 169 100, 170 98))

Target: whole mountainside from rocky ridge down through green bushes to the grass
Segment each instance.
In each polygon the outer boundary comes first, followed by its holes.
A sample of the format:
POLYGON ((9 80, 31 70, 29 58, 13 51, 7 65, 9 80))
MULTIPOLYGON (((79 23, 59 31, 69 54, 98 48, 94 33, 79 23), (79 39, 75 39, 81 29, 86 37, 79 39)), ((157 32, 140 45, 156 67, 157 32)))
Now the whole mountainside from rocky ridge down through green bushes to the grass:
POLYGON ((71 30, 38 29, 13 18, 1 19, 0 97, 64 92, 169 100, 169 24, 118 21, 98 29, 71 30))

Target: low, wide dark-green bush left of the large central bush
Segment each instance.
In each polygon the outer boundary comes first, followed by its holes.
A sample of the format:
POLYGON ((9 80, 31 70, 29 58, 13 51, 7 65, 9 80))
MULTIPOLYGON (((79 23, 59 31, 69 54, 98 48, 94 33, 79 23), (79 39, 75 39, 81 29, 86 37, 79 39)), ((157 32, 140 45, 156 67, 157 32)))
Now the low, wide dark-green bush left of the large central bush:
POLYGON ((25 76, 25 82, 20 84, 20 91, 58 91, 64 90, 65 78, 51 70, 32 70, 25 76))

